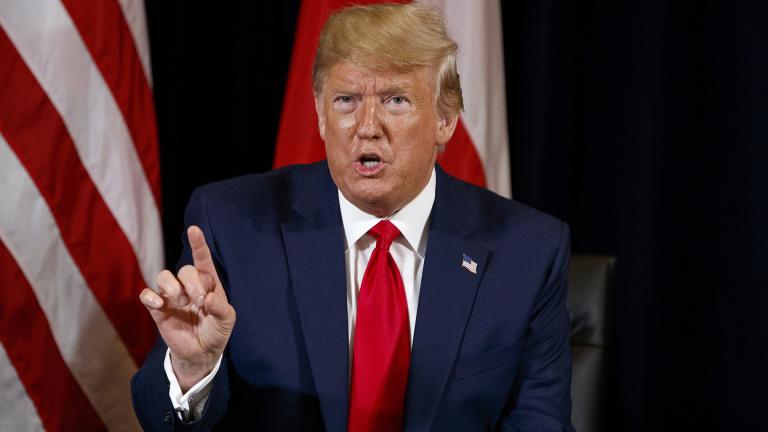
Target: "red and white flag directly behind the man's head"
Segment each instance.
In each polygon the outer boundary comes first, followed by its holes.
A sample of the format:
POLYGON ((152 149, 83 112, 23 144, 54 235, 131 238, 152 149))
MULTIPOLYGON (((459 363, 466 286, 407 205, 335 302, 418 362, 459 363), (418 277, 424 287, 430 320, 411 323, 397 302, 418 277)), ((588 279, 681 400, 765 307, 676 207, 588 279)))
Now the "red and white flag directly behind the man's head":
MULTIPOLYGON (((330 11, 349 4, 302 2, 275 149, 275 168, 325 158, 312 94, 312 63, 330 11)), ((425 0, 440 7, 459 45, 465 112, 438 162, 449 173, 509 197, 509 148, 501 10, 497 1, 425 0)))

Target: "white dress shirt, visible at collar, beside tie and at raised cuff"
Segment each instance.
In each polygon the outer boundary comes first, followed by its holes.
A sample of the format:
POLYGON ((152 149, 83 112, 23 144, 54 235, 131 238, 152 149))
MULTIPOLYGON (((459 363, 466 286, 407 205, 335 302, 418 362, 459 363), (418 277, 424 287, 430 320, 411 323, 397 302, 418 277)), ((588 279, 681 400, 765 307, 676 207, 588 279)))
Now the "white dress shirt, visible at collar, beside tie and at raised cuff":
MULTIPOLYGON (((429 214, 432 212, 432 205, 435 202, 435 185, 435 170, 433 169, 429 182, 419 195, 395 214, 384 218, 389 219, 400 230, 401 234, 392 242, 389 253, 392 254, 392 258, 400 270, 400 276, 403 278, 411 327, 411 344, 413 344, 413 332, 416 325, 416 309, 419 305, 424 255, 427 250, 429 214)), ((341 191, 339 191, 339 207, 345 235, 344 258, 347 272, 347 318, 351 364, 355 318, 357 316, 357 296, 360 292, 360 285, 363 282, 368 260, 376 247, 376 239, 369 235, 368 231, 384 219, 377 218, 355 207, 354 204, 344 198, 341 191)), ((221 357, 208 376, 186 393, 182 393, 171 366, 170 353, 169 349, 165 354, 164 366, 170 382, 169 396, 173 402, 173 408, 179 413, 182 420, 197 420, 202 415, 205 402, 208 400, 213 377, 221 365, 221 357)))

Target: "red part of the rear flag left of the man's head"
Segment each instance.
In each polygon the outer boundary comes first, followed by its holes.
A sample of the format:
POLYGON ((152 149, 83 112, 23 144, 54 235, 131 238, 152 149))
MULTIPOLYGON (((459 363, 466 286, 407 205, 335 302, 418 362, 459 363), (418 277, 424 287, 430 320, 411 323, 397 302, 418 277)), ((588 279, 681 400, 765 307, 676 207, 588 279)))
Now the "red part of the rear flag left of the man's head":
POLYGON ((381 0, 301 2, 291 53, 291 68, 288 71, 288 82, 283 98, 283 112, 277 133, 275 168, 325 159, 325 144, 317 129, 315 99, 312 91, 312 64, 315 61, 320 31, 331 11, 353 4, 372 3, 381 3, 381 0))

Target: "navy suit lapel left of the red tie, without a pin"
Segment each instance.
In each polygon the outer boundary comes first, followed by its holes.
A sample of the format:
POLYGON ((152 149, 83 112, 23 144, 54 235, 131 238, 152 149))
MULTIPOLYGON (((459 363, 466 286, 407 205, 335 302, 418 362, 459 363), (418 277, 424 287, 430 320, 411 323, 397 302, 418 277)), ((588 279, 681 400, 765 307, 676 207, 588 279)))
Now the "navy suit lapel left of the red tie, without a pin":
POLYGON ((349 341, 344 231, 323 164, 282 226, 296 305, 327 430, 346 430, 349 341))

